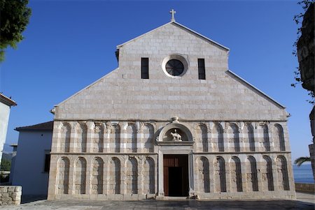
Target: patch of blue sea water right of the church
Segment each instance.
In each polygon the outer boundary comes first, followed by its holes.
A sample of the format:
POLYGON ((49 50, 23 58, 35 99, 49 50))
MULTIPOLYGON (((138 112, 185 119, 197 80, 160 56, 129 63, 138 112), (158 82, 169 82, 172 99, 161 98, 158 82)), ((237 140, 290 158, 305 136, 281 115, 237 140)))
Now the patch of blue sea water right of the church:
POLYGON ((314 183, 311 164, 302 164, 300 167, 293 165, 293 175, 297 183, 314 183))

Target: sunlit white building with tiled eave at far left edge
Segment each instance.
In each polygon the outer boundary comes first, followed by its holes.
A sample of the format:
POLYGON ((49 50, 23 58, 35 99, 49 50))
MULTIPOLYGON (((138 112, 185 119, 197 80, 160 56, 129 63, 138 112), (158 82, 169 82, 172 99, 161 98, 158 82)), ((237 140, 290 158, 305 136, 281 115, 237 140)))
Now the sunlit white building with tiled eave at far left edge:
POLYGON ((15 101, 0 93, 0 163, 3 152, 3 144, 6 142, 6 132, 8 130, 8 120, 11 106, 16 106, 15 101))

